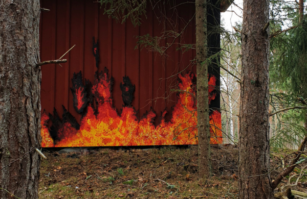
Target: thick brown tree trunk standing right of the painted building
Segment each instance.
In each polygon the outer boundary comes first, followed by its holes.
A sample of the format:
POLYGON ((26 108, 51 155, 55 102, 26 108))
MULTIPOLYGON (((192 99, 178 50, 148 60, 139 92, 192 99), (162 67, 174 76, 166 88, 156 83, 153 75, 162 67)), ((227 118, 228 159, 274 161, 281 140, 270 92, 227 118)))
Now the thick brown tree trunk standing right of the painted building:
POLYGON ((239 198, 274 198, 269 146, 269 0, 245 0, 239 134, 239 198))

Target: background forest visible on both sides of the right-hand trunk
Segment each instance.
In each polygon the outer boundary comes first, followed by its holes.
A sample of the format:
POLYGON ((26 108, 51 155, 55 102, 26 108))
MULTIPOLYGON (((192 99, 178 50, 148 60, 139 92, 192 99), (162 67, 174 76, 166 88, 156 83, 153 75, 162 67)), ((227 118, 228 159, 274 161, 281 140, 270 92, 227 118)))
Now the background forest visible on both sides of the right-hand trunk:
MULTIPOLYGON (((307 98, 307 27, 304 15, 306 6, 300 6, 302 2, 270 1, 270 145, 273 147, 297 149, 306 135, 304 101, 307 98)), ((228 12, 242 17, 239 3, 233 4, 232 10, 228 12)), ((242 69, 242 22, 233 24, 233 31, 227 31, 228 20, 223 22, 222 128, 226 135, 224 141, 236 143, 239 129, 239 79, 242 69)))

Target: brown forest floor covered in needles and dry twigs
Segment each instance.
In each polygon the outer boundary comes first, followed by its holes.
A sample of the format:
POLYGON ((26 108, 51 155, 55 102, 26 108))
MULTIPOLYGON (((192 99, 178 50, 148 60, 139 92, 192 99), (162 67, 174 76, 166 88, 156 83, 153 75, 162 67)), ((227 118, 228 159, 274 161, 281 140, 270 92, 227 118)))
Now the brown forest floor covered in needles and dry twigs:
MULTIPOLYGON (((211 147, 211 152, 213 177, 206 181, 199 178, 197 146, 43 151, 47 159, 41 163, 39 198, 237 198, 238 148, 225 144, 211 147)), ((291 152, 271 152, 272 179, 287 167, 291 152)), ((305 176, 291 188, 307 192, 304 182, 305 176)))

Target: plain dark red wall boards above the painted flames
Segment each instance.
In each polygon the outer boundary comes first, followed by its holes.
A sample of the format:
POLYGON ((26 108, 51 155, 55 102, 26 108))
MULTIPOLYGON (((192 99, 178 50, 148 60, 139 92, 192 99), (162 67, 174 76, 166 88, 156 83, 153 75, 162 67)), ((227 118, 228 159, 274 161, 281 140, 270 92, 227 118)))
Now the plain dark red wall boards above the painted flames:
MULTIPOLYGON (((175 1, 174 1, 175 2, 175 1)), ((176 1, 179 5, 181 1, 176 1)), ((169 5, 168 5, 169 6, 169 5)), ((93 0, 42 0, 41 8, 50 9, 42 12, 40 19, 40 60, 55 60, 60 58, 70 47, 76 45, 65 55, 67 63, 60 65, 49 64, 41 66, 41 107, 47 113, 56 108, 59 115, 63 113, 62 105, 79 121, 79 115, 73 107, 71 79, 74 72, 82 71, 83 80, 94 80, 97 70, 92 53, 93 37, 99 39, 100 63, 99 71, 108 68, 114 77, 114 105, 120 112, 123 106, 120 83, 128 76, 131 83, 136 85, 135 98, 132 105, 142 116, 152 107, 157 112, 156 122, 161 111, 171 107, 177 101, 176 93, 171 94, 171 88, 177 89, 177 76, 172 75, 184 70, 195 71, 191 60, 195 51, 182 54, 176 49, 179 44, 168 48, 166 55, 148 52, 147 49, 136 49, 137 38, 150 34, 160 36, 163 23, 158 10, 147 10, 147 19, 143 17, 141 26, 134 27, 128 20, 126 23, 104 15, 100 4, 93 0), (159 18, 159 19, 158 19, 159 18), (171 77, 171 78, 170 78, 171 77), (153 99, 153 100, 152 100, 153 99)), ((158 7, 157 7, 158 8, 158 7)), ((166 25, 168 30, 176 27, 178 31, 186 26, 193 17, 194 5, 183 4, 174 12, 165 9, 164 14, 171 18, 166 25)), ((163 40, 161 45, 171 43, 172 39, 163 40)), ((192 20, 186 31, 176 39, 175 43, 195 43, 195 22, 192 20)))

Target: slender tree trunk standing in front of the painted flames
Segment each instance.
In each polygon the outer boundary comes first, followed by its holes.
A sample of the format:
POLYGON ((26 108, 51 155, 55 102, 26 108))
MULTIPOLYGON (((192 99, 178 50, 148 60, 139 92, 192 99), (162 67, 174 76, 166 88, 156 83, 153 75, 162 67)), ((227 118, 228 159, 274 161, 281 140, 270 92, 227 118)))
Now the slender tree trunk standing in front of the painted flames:
POLYGON ((207 59, 207 1, 195 1, 196 16, 196 73, 197 73, 197 112, 199 140, 199 173, 201 178, 211 175, 210 126, 208 99, 207 59))

